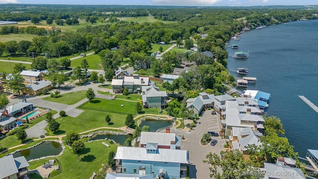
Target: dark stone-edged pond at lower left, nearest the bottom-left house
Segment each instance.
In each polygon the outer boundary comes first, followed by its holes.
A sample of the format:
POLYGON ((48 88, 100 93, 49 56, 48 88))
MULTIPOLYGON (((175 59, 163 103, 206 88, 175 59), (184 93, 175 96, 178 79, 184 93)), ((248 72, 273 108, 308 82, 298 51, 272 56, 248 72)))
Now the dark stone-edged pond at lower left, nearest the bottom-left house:
POLYGON ((46 141, 31 149, 22 150, 13 154, 13 157, 24 156, 27 161, 41 157, 59 155, 62 152, 62 146, 58 142, 46 141))

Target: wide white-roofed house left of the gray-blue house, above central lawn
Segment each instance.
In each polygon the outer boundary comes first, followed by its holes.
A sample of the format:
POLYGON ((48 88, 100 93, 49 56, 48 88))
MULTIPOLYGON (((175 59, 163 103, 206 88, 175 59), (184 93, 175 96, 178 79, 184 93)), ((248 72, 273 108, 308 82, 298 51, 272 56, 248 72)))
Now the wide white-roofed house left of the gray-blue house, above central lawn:
POLYGON ((124 88, 131 89, 134 93, 141 92, 143 86, 149 86, 152 82, 148 77, 139 77, 138 74, 133 74, 133 77, 124 77, 124 80, 113 79, 111 86, 113 92, 121 93, 124 88))

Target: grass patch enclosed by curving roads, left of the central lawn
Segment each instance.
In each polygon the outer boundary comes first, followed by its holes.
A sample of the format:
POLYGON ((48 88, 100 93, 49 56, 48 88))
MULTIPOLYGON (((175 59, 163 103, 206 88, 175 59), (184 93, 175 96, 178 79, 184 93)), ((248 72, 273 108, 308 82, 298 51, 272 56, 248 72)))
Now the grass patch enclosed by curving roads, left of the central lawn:
POLYGON ((42 99, 44 100, 48 100, 51 102, 58 102, 58 103, 62 103, 62 104, 75 104, 77 102, 79 102, 80 100, 85 98, 85 90, 81 90, 81 91, 74 91, 74 92, 69 92, 69 93, 65 93, 65 94, 61 94, 61 97, 44 97, 42 99))

